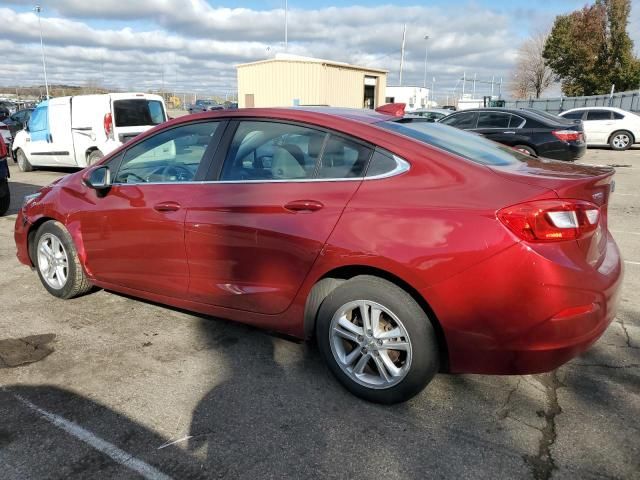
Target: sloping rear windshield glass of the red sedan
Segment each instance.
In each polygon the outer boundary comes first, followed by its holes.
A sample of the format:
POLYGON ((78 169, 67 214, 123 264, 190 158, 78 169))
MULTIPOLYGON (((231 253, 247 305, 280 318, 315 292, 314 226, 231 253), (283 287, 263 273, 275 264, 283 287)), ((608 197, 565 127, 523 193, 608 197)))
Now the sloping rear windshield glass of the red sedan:
POLYGON ((376 125, 483 165, 511 165, 531 158, 475 133, 441 123, 399 123, 389 120, 376 125))

